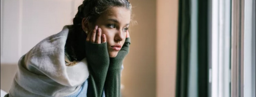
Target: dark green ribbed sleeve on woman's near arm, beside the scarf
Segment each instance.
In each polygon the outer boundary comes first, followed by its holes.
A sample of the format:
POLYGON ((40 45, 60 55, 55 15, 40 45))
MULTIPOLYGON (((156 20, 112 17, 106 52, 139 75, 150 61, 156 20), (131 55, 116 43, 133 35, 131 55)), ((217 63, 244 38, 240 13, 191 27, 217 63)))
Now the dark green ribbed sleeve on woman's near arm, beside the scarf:
POLYGON ((90 72, 87 97, 101 97, 109 66, 107 43, 86 42, 86 57, 90 72))

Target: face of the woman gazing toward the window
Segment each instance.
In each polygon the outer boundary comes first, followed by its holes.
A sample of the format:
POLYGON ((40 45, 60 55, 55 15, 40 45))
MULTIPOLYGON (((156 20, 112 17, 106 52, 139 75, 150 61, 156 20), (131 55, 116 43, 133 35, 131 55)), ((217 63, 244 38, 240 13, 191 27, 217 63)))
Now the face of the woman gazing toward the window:
MULTIPOLYGON (((101 28, 101 34, 106 35, 109 57, 116 57, 120 48, 115 46, 122 47, 125 43, 130 20, 131 11, 125 7, 113 7, 97 19, 95 24, 101 28)), ((89 30, 94 26, 89 24, 89 30)))

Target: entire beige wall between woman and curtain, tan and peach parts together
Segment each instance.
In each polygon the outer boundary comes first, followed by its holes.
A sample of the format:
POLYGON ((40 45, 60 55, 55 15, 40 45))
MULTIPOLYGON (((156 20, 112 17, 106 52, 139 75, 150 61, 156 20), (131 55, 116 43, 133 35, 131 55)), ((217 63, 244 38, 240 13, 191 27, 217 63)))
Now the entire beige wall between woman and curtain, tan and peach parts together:
POLYGON ((124 61, 124 97, 175 97, 178 0, 130 0, 131 27, 124 61))

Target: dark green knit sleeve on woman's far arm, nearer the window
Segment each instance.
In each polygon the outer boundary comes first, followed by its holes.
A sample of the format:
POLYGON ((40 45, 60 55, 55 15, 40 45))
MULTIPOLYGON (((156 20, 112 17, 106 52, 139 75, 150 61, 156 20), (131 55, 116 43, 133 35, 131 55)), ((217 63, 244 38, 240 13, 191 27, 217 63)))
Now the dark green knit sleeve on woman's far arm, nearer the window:
POLYGON ((110 58, 107 78, 105 81, 106 97, 121 97, 121 67, 125 56, 129 53, 131 44, 130 38, 125 39, 125 43, 115 58, 110 58))

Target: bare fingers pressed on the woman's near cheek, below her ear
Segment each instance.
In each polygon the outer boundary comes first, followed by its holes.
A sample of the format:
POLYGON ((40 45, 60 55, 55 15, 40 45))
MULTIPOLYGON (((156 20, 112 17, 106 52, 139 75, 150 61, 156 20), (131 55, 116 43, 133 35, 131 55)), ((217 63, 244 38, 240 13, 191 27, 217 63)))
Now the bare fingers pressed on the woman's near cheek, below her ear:
POLYGON ((98 26, 95 26, 95 28, 89 32, 86 41, 95 43, 95 44, 101 44, 107 42, 106 35, 101 35, 101 28, 98 28, 98 26))

